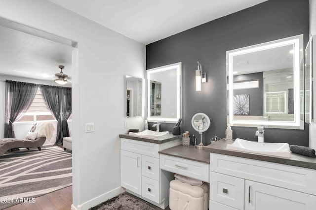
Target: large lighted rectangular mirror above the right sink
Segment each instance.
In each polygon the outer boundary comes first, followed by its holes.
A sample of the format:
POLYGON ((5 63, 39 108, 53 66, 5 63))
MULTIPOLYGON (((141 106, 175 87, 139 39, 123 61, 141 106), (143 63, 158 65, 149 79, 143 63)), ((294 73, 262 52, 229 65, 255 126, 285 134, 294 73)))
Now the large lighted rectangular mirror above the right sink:
POLYGON ((227 123, 304 129, 303 35, 227 52, 227 123))

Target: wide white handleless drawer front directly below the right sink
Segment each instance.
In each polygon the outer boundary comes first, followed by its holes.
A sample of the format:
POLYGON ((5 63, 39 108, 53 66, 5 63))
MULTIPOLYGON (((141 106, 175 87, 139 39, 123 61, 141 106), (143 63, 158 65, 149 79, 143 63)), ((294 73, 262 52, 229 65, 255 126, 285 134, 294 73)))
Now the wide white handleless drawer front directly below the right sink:
POLYGON ((210 153, 210 170, 316 195, 316 170, 210 153))

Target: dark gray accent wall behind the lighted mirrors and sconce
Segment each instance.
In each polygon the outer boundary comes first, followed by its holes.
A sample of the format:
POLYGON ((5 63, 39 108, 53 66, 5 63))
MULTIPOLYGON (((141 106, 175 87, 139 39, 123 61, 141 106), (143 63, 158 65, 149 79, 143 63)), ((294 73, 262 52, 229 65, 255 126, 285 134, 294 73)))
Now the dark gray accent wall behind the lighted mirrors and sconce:
MULTIPOLYGON (((167 24, 167 23, 166 23, 167 24)), ((304 34, 304 49, 309 39, 309 0, 269 0, 234 14, 183 31, 146 46, 147 69, 182 62, 182 132, 192 128, 191 119, 202 112, 211 125, 203 143, 226 130, 226 51, 304 34), (195 90, 197 61, 207 73, 202 91, 195 90)), ((161 130, 172 131, 174 124, 163 123, 161 130)), ((233 138, 257 140, 256 128, 233 127, 233 138)), ((265 129, 265 142, 288 142, 308 146, 309 125, 305 130, 265 129)))

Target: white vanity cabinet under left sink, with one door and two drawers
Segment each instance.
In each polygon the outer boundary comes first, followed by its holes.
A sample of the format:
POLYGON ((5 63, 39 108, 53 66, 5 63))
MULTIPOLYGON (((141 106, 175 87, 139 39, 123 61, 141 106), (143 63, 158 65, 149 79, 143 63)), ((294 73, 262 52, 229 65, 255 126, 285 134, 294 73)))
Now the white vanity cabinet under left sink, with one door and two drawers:
POLYGON ((179 139, 162 144, 120 139, 120 185, 162 209, 169 205, 173 174, 159 169, 158 151, 181 144, 179 139))

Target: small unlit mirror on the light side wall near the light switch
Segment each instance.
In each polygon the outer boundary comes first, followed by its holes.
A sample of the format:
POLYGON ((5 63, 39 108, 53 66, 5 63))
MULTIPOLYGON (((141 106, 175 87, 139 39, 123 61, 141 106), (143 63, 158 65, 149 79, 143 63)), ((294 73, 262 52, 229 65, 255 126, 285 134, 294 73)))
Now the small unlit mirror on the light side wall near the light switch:
POLYGON ((126 75, 125 117, 144 117, 145 79, 126 75))

